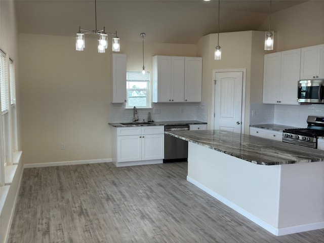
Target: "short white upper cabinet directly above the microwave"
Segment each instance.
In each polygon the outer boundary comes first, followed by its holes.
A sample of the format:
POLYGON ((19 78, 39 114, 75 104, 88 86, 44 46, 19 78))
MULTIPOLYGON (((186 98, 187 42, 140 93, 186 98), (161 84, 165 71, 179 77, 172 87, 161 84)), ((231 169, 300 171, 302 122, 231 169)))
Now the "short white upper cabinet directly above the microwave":
POLYGON ((301 49, 300 79, 324 78, 324 44, 301 49))

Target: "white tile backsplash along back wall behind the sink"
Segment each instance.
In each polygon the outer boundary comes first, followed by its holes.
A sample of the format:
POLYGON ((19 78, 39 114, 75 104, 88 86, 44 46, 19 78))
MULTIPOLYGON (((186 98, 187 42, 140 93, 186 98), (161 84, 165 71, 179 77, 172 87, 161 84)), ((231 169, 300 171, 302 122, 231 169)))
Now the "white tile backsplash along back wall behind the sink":
MULTIPOLYGON (((207 122, 208 105, 206 103, 152 103, 150 109, 137 109, 139 121, 147 121, 148 112, 154 121, 199 120, 207 122)), ((136 116, 137 116, 136 115, 136 116)), ((109 104, 109 123, 131 122, 133 109, 126 109, 125 104, 109 104)))

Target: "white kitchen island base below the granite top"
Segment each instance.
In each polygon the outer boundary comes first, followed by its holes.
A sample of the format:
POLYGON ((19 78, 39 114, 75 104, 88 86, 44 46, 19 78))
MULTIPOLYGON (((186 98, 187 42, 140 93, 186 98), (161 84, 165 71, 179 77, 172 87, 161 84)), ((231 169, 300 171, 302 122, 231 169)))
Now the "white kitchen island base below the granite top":
POLYGON ((274 235, 324 228, 324 163, 256 165, 188 143, 187 180, 274 235))

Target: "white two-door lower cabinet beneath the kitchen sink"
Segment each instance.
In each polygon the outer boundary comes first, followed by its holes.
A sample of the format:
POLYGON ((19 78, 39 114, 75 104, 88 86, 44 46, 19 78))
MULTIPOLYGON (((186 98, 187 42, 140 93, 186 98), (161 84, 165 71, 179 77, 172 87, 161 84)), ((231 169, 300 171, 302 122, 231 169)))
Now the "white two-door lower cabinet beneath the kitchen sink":
POLYGON ((164 126, 115 128, 112 146, 115 166, 161 164, 164 158, 164 126))

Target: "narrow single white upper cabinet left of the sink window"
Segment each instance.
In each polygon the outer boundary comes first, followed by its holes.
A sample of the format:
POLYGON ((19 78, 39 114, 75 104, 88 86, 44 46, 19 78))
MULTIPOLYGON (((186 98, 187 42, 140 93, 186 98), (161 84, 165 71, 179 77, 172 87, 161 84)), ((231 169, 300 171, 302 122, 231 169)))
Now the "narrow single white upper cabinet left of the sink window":
POLYGON ((126 54, 112 54, 111 103, 126 103, 126 54))

